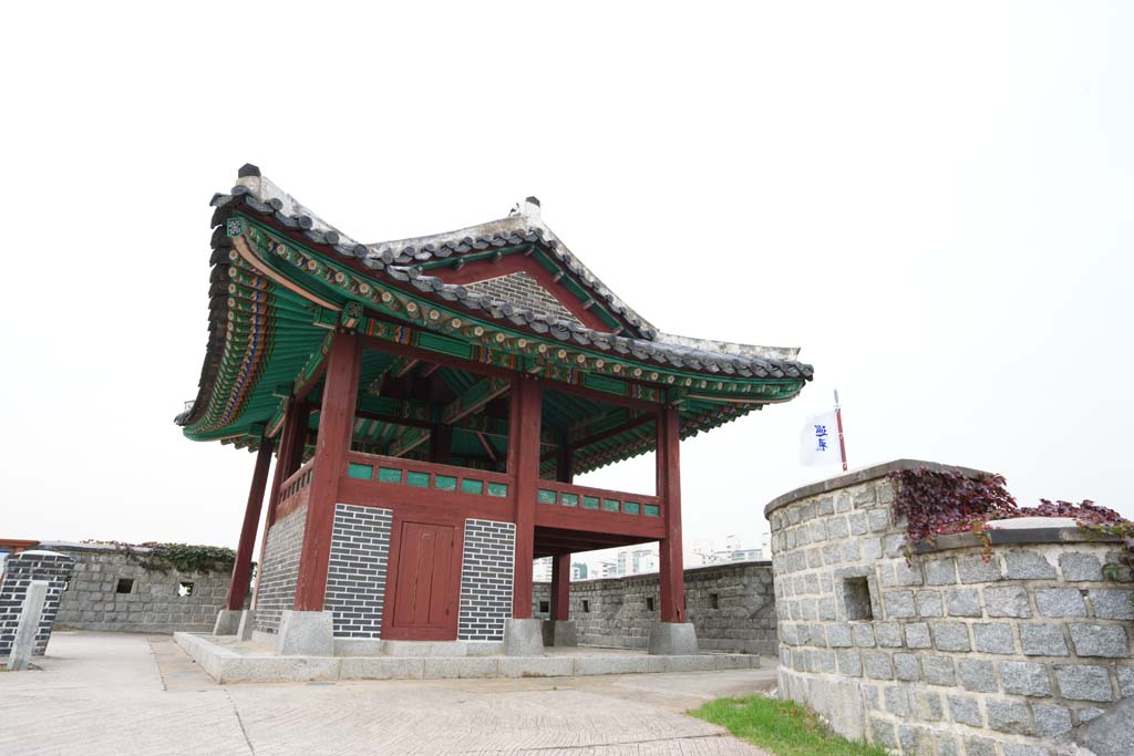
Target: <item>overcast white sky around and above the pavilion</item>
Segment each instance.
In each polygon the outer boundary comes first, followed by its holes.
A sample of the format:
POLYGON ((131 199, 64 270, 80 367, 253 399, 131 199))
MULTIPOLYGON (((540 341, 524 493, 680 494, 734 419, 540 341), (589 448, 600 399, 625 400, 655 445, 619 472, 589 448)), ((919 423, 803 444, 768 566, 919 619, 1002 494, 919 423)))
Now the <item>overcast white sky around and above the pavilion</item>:
POLYGON ((824 475, 836 387, 853 466, 1134 516, 1134 6, 327 5, 6 10, 0 536, 235 545, 253 457, 171 421, 244 162, 366 241, 534 194, 662 330, 802 346, 798 400, 683 444, 687 547, 824 475))

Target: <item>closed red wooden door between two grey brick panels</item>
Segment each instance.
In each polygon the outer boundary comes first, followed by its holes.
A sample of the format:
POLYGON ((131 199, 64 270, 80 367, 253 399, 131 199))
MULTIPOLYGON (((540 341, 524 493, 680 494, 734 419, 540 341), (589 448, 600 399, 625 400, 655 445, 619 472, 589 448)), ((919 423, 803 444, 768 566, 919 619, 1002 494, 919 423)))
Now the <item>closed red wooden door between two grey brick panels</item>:
POLYGON ((455 632, 455 530, 451 525, 401 524, 392 618, 397 636, 432 640, 455 632))

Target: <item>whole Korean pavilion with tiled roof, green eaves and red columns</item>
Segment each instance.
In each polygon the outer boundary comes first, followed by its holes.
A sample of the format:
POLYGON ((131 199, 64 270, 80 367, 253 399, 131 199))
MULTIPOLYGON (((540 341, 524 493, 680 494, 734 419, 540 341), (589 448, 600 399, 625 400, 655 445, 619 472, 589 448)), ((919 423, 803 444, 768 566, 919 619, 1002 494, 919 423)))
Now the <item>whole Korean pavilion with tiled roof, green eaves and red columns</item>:
POLYGON ((218 632, 281 653, 460 640, 539 654, 544 632, 572 643, 573 553, 658 541, 651 652, 695 653, 679 441, 793 399, 812 377, 797 349, 660 332, 533 197, 500 220, 380 244, 254 165, 212 205, 209 342, 177 424, 256 452, 218 632), (648 451, 654 491, 573 483, 648 451), (532 619, 541 557, 553 558, 547 629, 532 619))

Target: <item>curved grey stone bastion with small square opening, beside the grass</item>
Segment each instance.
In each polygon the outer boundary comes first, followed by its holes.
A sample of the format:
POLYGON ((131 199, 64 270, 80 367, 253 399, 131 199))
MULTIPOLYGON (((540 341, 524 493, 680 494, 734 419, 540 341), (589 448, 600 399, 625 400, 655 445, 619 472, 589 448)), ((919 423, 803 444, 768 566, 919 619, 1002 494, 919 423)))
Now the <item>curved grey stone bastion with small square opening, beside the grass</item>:
POLYGON ((993 530, 988 560, 962 534, 907 562, 888 474, 916 467, 980 474, 899 460, 764 509, 780 695, 904 754, 1049 756, 1134 696, 1120 544, 1077 527, 993 530))

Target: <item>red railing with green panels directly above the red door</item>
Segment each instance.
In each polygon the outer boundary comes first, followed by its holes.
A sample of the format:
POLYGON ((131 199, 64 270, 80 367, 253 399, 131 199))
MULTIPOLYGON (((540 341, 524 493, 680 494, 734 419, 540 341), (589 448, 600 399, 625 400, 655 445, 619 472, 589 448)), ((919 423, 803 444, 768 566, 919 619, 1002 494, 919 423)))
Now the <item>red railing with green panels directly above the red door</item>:
POLYGON ((347 455, 347 477, 386 485, 499 499, 506 499, 511 490, 511 478, 501 473, 364 455, 357 451, 347 455))

